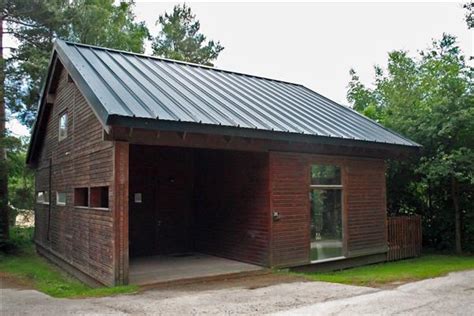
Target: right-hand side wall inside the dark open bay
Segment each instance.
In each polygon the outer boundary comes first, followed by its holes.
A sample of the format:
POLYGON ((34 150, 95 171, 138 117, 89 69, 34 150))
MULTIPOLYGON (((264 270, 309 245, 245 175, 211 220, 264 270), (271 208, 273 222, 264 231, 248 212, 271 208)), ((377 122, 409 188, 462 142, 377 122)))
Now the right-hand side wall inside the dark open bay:
POLYGON ((199 150, 195 177, 196 249, 269 265, 268 154, 199 150))

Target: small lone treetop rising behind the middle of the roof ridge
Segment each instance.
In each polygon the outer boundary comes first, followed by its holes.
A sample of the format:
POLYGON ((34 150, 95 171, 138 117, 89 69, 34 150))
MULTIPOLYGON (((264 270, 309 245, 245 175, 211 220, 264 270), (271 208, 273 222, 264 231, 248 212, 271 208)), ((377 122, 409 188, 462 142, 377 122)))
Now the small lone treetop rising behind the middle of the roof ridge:
POLYGON ((224 49, 219 42, 206 43, 206 36, 199 33, 199 21, 185 4, 176 5, 171 14, 160 15, 157 24, 161 31, 153 40, 153 55, 213 66, 224 49))

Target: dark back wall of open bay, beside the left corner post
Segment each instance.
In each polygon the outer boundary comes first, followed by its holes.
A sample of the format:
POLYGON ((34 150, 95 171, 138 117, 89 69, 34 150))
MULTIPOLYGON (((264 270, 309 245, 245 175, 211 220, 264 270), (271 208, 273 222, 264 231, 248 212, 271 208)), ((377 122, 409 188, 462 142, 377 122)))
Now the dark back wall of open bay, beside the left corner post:
POLYGON ((192 249, 193 150, 132 145, 130 251, 132 256, 192 249), (134 194, 142 202, 134 202, 134 194))

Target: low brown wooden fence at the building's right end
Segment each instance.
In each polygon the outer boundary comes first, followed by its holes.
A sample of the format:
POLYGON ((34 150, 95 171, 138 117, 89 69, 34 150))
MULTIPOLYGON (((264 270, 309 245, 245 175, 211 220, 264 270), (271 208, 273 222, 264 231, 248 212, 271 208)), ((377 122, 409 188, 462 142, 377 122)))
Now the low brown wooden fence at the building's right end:
POLYGON ((388 218, 387 260, 394 261, 421 254, 420 216, 394 216, 388 218))

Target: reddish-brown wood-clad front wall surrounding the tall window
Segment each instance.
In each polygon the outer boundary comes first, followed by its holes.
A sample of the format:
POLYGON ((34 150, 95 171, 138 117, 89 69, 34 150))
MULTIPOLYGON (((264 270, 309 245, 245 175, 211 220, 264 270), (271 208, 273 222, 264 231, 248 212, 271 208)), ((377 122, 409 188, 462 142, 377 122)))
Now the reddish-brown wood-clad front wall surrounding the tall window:
POLYGON ((386 252, 385 165, 383 160, 270 153, 272 265, 309 263, 310 166, 333 164, 343 178, 343 219, 347 257, 386 252))

